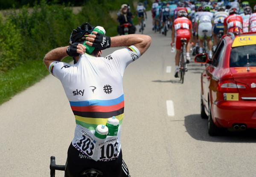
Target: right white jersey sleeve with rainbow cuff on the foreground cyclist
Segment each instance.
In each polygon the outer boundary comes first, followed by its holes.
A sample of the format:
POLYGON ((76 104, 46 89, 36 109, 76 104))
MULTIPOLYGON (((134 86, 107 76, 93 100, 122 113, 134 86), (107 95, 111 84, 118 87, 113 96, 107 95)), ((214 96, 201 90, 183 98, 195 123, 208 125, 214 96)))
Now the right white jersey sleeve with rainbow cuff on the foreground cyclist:
POLYGON ((111 57, 116 68, 123 74, 126 67, 140 57, 140 51, 135 46, 129 46, 125 49, 116 50, 106 57, 111 57))

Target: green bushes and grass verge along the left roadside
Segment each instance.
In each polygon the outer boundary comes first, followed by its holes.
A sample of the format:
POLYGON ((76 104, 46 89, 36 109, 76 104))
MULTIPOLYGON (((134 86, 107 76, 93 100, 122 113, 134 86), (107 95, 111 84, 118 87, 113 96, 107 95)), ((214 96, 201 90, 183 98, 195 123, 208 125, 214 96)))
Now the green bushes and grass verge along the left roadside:
MULTIPOLYGON (((0 0, 0 8, 7 9, 3 3, 14 1, 0 0)), ((42 61, 44 55, 67 46, 71 31, 82 23, 104 26, 107 35, 116 35, 118 23, 110 12, 118 11, 122 3, 129 3, 134 11, 134 1, 85 0, 82 10, 74 14, 72 3, 42 0, 32 7, 34 1, 29 0, 29 5, 0 16, 0 104, 49 74, 42 61)))

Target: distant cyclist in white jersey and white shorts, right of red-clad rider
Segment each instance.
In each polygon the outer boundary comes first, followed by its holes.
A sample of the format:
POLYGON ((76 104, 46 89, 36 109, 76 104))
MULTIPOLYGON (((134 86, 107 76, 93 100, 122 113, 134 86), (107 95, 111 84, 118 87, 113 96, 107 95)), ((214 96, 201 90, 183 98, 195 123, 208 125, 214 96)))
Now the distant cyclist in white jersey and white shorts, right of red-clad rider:
MULTIPOLYGON (((199 53, 203 53, 203 43, 206 37, 209 57, 212 57, 212 18, 211 6, 205 5, 203 11, 198 15, 198 38, 199 53)), ((206 50, 206 49, 205 49, 206 50)))

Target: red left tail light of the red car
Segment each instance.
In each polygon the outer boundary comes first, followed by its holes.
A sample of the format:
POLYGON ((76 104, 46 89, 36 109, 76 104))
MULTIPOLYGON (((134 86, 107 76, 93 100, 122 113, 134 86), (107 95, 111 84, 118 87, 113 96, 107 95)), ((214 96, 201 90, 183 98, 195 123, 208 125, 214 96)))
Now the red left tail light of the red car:
POLYGON ((223 80, 218 83, 217 90, 219 92, 234 93, 238 92, 239 89, 245 89, 246 85, 242 83, 236 83, 233 79, 223 80))

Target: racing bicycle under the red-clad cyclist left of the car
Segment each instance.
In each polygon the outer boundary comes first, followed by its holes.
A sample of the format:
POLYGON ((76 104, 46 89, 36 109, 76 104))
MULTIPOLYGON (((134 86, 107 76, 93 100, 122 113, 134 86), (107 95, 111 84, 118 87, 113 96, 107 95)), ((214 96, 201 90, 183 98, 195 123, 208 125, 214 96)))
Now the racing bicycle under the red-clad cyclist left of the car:
POLYGON ((180 63, 179 63, 179 69, 180 69, 180 82, 184 83, 184 75, 186 72, 186 38, 181 38, 181 55, 180 55, 180 63))

